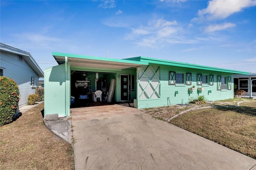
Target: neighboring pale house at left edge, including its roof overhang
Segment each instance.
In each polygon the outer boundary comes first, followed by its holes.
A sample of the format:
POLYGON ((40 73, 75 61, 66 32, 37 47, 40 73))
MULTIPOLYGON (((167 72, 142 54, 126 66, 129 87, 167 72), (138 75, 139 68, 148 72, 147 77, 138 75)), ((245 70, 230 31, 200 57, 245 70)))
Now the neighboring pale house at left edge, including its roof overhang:
POLYGON ((44 72, 29 52, 0 43, 0 75, 10 77, 20 89, 19 107, 28 102, 28 95, 35 94, 39 77, 44 72))

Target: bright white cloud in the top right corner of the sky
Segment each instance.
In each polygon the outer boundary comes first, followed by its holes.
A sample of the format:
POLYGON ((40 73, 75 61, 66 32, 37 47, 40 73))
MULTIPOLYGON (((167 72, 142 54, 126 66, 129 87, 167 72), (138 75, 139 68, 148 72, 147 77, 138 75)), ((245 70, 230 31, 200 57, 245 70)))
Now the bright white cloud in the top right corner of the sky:
POLYGON ((198 15, 208 20, 224 19, 242 11, 244 8, 256 6, 255 0, 212 0, 205 9, 199 10, 198 15))

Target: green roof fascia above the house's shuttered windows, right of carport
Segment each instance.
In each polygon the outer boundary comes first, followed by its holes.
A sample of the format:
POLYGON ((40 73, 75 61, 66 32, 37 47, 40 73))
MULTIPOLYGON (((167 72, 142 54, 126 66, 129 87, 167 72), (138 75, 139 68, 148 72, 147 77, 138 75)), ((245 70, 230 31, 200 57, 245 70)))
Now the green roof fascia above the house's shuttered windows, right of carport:
POLYGON ((246 71, 237 71, 237 70, 222 69, 222 68, 217 68, 217 67, 208 67, 208 66, 204 66, 204 65, 182 63, 182 62, 177 62, 177 61, 155 59, 155 58, 149 58, 149 57, 133 57, 133 58, 127 58, 126 60, 142 61, 142 62, 147 62, 147 63, 152 63, 152 64, 171 65, 171 66, 177 66, 177 67, 203 69, 203 70, 210 70, 210 71, 220 71, 220 72, 225 72, 225 73, 244 74, 244 75, 249 74, 249 72, 246 72, 246 71))

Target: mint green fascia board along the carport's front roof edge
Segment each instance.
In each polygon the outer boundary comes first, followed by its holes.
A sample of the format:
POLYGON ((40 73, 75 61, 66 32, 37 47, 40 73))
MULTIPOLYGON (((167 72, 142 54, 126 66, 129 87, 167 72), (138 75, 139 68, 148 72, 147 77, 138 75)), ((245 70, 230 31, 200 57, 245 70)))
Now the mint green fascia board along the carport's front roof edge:
POLYGON ((100 60, 100 61, 113 61, 113 62, 118 62, 118 63, 148 65, 147 62, 142 62, 142 61, 130 61, 130 60, 126 60, 126 59, 111 59, 111 58, 103 58, 103 57, 92 57, 92 56, 88 56, 88 55, 78 55, 78 54, 69 54, 69 53, 52 52, 52 55, 55 60, 56 60, 55 56, 60 56, 60 57, 72 57, 72 58, 92 59, 92 60, 100 60))

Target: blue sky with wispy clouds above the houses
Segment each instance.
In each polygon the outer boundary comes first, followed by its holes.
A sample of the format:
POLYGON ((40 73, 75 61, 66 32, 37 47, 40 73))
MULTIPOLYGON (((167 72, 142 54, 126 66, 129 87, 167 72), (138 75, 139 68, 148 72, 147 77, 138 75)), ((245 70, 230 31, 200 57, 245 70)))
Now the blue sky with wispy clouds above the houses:
POLYGON ((0 41, 42 69, 52 52, 152 57, 256 73, 256 0, 0 1, 0 41))

